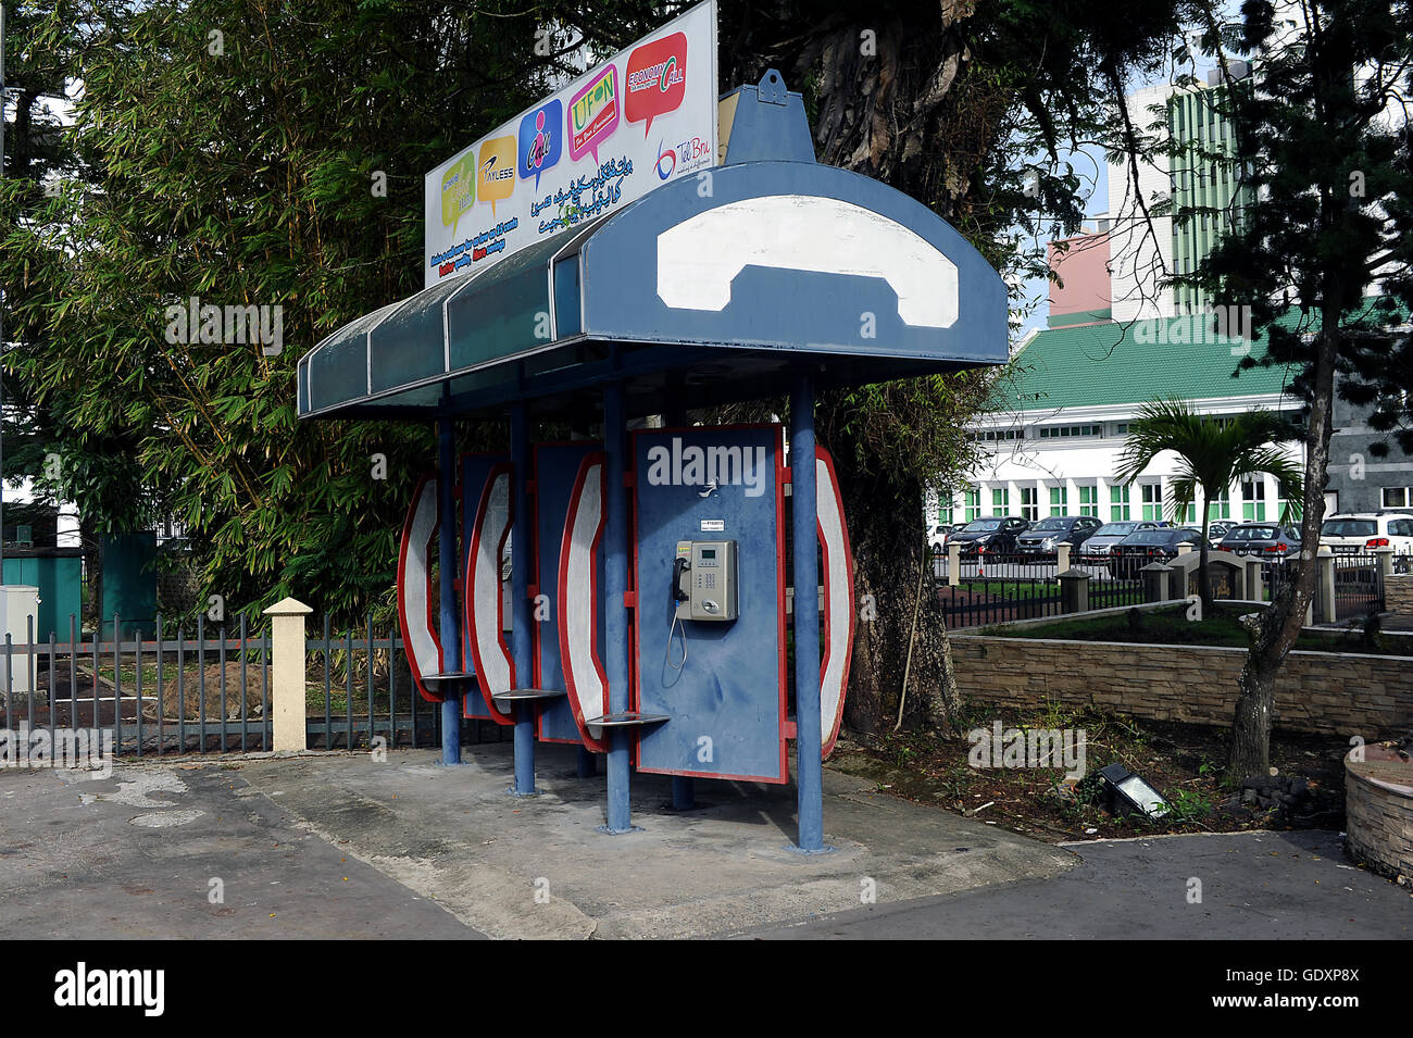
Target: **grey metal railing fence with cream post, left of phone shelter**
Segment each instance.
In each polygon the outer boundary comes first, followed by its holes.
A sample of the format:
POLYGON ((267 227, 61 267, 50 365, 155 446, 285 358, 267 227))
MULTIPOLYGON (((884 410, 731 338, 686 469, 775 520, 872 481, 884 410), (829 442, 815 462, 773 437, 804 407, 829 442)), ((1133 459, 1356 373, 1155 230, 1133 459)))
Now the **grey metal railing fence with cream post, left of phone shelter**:
MULTIPOLYGON (((119 754, 242 753, 270 750, 270 633, 252 633, 242 617, 235 637, 211 633, 205 619, 194 636, 168 631, 157 617, 151 633, 120 617, 81 636, 69 620, 68 641, 51 633, 37 643, 32 619, 25 644, 6 637, 3 720, 8 730, 105 729, 119 754), (106 636, 106 640, 105 640, 106 636)), ((441 708, 418 695, 396 630, 379 636, 372 619, 360 631, 305 644, 305 732, 309 748, 356 748, 374 737, 387 746, 441 744, 441 708)), ((493 722, 465 722, 462 741, 500 741, 493 722), (495 729, 492 736, 487 724, 495 729)))

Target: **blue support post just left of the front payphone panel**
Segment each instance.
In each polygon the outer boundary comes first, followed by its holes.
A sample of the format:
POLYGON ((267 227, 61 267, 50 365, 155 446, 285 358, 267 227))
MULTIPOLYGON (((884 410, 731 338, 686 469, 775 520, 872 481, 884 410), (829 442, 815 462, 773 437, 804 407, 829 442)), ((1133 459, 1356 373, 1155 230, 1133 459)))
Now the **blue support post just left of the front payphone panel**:
MULTIPOLYGON (((609 682, 609 713, 627 710, 627 497, 623 472, 627 456, 627 425, 623 411, 623 387, 613 383, 603 390, 603 672, 609 682)), ((605 832, 633 830, 627 770, 627 730, 612 729, 608 753, 609 811, 605 832)))

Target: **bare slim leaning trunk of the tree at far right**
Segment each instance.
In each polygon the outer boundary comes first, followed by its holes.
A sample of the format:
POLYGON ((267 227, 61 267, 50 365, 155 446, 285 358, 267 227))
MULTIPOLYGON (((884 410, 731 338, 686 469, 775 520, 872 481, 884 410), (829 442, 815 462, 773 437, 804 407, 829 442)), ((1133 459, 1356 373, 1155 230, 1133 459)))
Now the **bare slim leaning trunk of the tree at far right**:
MULTIPOLYGON (((1330 411, 1334 405, 1334 353, 1338 335, 1338 309, 1325 306, 1317 339, 1314 400, 1306 428, 1304 514, 1300 520, 1300 562, 1293 580, 1286 580, 1265 612, 1256 640, 1242 667, 1236 716, 1232 723, 1231 756, 1226 775, 1242 780, 1265 775, 1270 770, 1270 726, 1276 700, 1276 678, 1300 637, 1306 610, 1314 599, 1320 549, 1320 525, 1324 521, 1324 487, 1330 466, 1330 411)), ((1291 559, 1286 565, 1294 565, 1291 559)))

